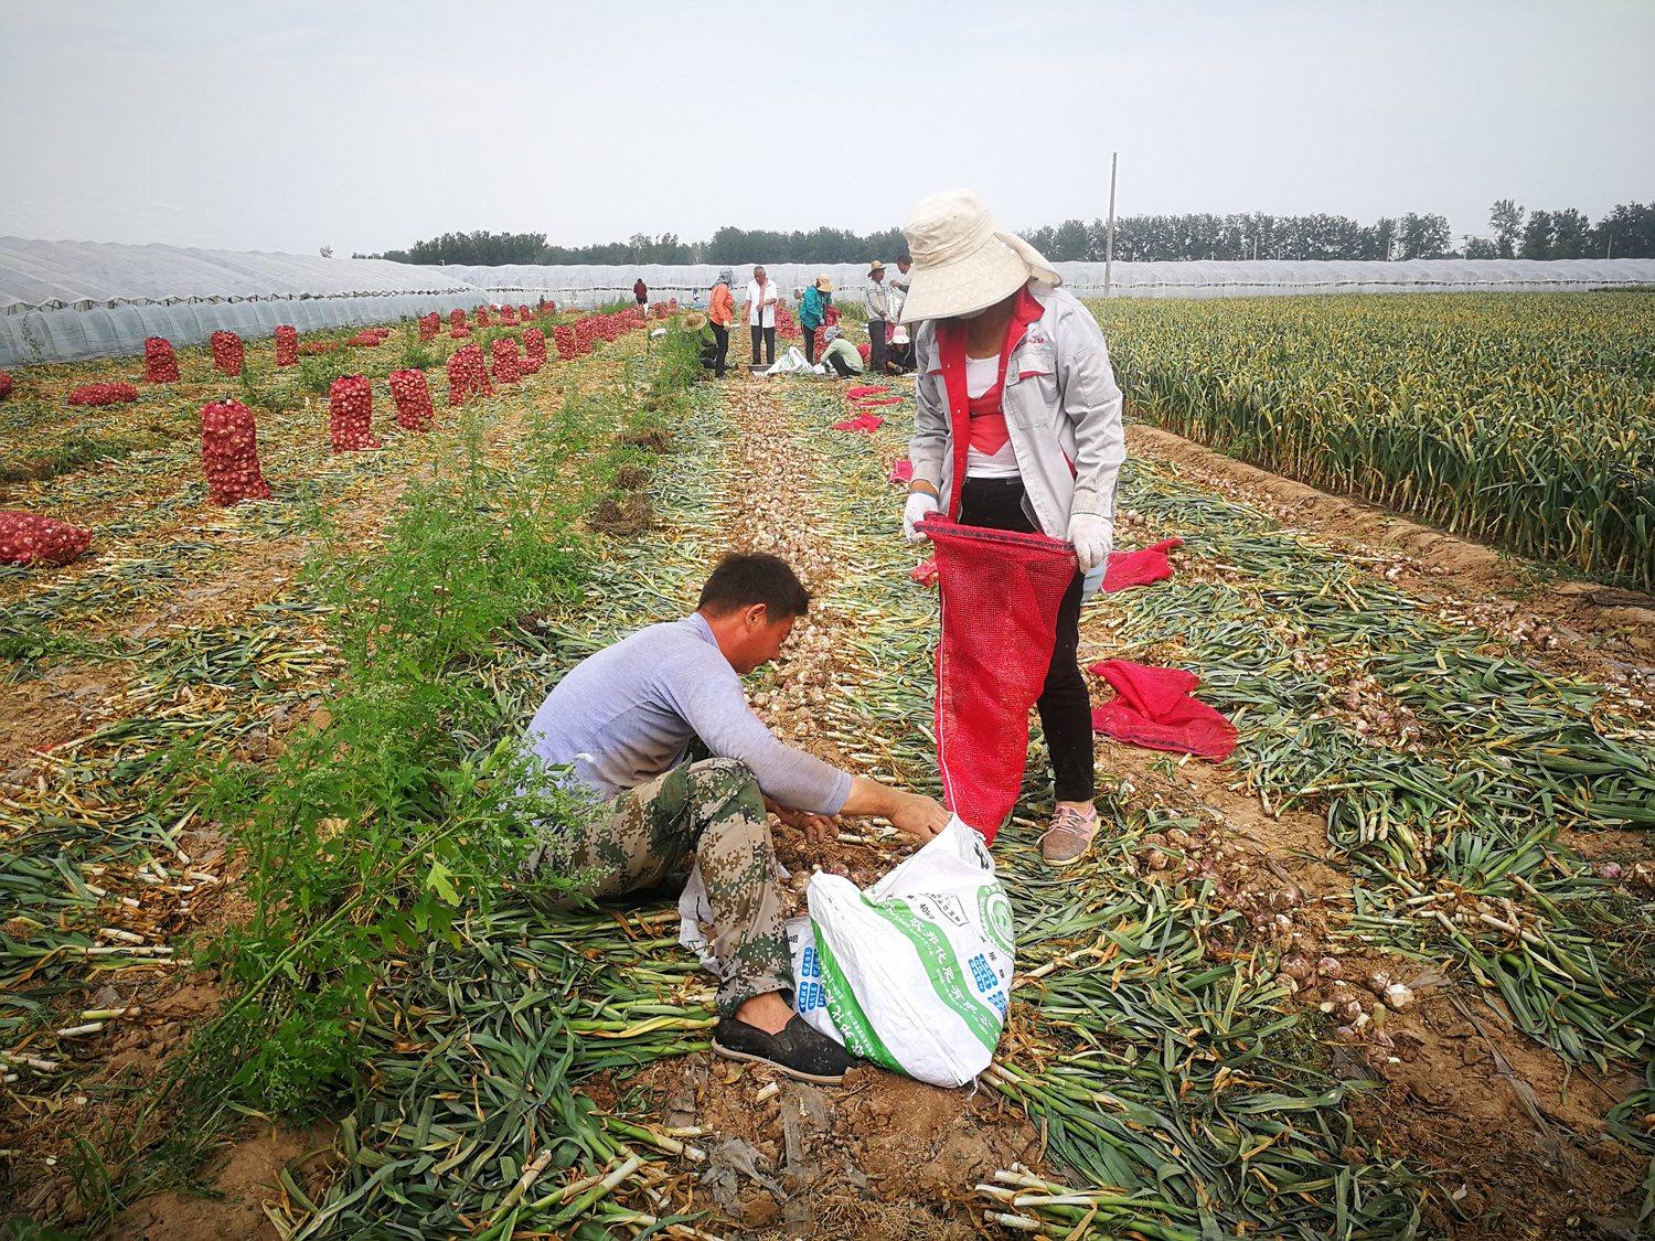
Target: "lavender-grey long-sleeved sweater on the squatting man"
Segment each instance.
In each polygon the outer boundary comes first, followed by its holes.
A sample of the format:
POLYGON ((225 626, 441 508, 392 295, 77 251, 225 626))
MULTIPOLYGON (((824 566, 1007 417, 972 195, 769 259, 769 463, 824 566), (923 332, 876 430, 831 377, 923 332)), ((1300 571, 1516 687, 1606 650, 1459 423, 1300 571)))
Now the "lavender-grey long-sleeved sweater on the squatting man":
POLYGON ((604 801, 677 766, 697 736, 718 758, 753 768, 783 806, 837 814, 851 796, 851 776, 783 745, 753 715, 700 612, 588 655, 528 726, 543 763, 573 766, 604 801))

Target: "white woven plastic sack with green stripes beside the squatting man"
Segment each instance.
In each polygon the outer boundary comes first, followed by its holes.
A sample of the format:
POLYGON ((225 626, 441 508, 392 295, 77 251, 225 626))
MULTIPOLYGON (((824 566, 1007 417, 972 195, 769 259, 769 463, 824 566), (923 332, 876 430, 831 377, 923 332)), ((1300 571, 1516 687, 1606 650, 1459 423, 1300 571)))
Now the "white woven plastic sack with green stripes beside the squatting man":
POLYGON ((819 874, 806 898, 846 1047, 932 1085, 965 1085, 988 1067, 1016 945, 981 836, 953 819, 867 892, 819 874))

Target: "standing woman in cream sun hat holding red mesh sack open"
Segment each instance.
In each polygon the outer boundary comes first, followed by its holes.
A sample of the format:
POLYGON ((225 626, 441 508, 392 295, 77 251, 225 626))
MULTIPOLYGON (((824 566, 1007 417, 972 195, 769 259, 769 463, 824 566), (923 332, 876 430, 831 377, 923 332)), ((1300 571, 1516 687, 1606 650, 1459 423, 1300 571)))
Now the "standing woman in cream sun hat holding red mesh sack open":
POLYGON ((915 526, 940 510, 967 526, 1067 539, 1081 563, 1038 702, 1058 803, 1041 854, 1067 865, 1097 834, 1081 591, 1114 541, 1120 389, 1091 311, 971 194, 933 194, 904 233, 914 268, 902 323, 919 324, 904 531, 923 541, 915 526))

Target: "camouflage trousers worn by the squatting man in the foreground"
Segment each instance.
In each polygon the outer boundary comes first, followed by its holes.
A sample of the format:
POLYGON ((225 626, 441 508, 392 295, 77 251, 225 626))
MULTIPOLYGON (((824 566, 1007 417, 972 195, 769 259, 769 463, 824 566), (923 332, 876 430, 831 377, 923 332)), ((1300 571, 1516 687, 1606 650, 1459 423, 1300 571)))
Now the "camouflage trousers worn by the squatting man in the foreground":
POLYGON ((791 991, 776 850, 765 798, 745 763, 684 763, 622 793, 573 865, 596 872, 586 892, 606 900, 667 882, 682 887, 692 855, 713 910, 712 950, 723 968, 718 1009, 728 1016, 765 991, 791 991))

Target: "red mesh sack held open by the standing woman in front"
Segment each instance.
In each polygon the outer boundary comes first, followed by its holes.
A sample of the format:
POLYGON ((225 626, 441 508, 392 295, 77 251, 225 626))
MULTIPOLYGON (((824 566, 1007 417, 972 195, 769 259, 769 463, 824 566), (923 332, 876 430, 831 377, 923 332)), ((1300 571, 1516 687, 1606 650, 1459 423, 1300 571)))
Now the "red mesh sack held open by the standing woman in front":
POLYGON ((920 525, 937 553, 937 766, 943 801, 993 844, 1018 804, 1074 548, 1044 534, 920 525))

